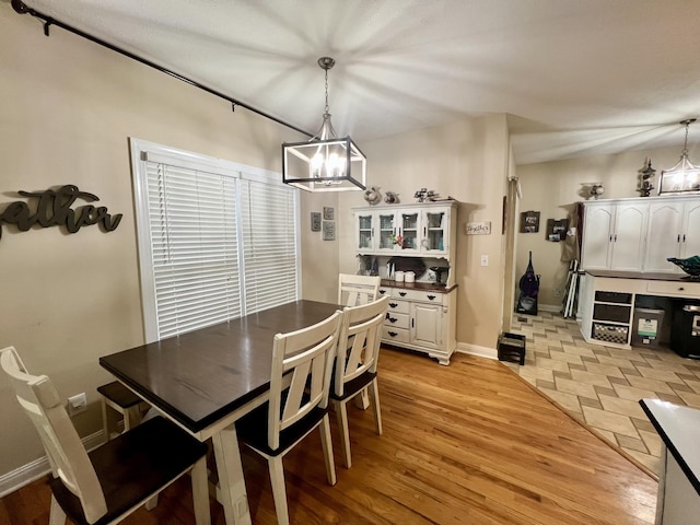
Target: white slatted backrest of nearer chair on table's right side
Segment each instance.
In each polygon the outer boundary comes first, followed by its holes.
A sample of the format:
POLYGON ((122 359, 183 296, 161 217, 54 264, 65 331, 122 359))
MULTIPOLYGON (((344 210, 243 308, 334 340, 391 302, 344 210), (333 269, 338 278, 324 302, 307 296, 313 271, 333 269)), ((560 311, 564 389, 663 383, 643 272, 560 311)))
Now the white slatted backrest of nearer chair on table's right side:
POLYGON ((271 448, 279 446, 280 431, 315 407, 328 406, 341 317, 338 311, 316 325, 275 336, 268 411, 271 448))

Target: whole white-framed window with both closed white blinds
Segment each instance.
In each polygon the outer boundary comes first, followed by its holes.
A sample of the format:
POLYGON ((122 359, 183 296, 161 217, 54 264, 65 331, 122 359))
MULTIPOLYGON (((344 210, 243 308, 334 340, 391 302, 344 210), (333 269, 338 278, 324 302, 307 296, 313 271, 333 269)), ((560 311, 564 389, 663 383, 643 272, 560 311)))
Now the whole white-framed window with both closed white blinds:
POLYGON ((149 342, 298 299, 299 197, 279 174, 131 151, 149 342))

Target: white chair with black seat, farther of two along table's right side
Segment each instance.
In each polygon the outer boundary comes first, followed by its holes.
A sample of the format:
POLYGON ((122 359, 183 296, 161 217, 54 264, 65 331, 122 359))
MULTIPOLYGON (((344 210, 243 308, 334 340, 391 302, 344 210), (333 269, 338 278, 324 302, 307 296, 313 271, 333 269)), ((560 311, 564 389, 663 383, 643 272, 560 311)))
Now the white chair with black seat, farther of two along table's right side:
POLYGON ((384 296, 369 304, 346 307, 342 313, 330 400, 338 416, 340 443, 348 468, 352 458, 347 404, 365 388, 370 390, 376 433, 382 435, 376 366, 388 302, 389 298, 384 296))

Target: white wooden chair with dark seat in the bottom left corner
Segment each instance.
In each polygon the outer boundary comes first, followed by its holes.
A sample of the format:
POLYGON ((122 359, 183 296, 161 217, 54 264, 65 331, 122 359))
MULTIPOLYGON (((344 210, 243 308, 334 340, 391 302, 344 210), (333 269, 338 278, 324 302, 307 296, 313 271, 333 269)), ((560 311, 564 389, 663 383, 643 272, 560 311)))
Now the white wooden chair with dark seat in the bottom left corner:
POLYGON ((186 472, 197 525, 211 522, 206 444, 158 417, 88 453, 51 381, 31 375, 13 347, 0 351, 0 365, 51 466, 51 525, 119 523, 186 472))

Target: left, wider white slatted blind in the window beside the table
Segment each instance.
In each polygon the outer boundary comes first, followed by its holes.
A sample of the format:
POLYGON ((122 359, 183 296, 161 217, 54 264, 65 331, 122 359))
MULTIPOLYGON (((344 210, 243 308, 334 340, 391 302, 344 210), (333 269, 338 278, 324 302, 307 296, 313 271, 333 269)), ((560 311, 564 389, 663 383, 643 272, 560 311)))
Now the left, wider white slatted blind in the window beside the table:
POLYGON ((159 339, 241 316, 235 179, 147 163, 159 339))

